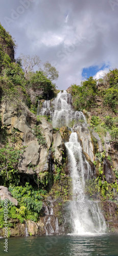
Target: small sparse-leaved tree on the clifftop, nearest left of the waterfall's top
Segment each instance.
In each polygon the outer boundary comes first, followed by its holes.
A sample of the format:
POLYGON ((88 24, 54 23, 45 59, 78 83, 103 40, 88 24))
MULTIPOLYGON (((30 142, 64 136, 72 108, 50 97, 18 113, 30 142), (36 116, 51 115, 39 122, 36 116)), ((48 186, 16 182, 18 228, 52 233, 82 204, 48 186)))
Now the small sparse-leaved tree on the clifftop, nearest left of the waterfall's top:
POLYGON ((50 79, 51 81, 57 80, 59 77, 59 72, 56 70, 54 66, 51 65, 49 61, 44 63, 44 75, 50 79))

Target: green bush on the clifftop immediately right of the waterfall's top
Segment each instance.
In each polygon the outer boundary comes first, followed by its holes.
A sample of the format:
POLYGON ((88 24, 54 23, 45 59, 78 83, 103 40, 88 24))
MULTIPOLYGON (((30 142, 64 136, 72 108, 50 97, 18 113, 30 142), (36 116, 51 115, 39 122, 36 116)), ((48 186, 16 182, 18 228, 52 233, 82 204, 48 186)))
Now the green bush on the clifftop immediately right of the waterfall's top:
POLYGON ((73 105, 76 110, 88 109, 95 103, 97 81, 92 76, 81 83, 81 87, 72 85, 73 105))

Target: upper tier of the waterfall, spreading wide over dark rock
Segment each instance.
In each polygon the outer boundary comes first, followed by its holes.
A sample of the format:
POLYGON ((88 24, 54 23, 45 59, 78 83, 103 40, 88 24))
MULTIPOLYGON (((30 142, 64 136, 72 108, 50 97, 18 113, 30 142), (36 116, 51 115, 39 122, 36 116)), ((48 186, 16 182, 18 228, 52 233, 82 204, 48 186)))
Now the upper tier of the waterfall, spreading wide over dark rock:
POLYGON ((66 91, 60 91, 53 101, 45 100, 40 115, 50 115, 53 127, 73 126, 77 121, 86 122, 81 111, 74 111, 72 95, 66 91))

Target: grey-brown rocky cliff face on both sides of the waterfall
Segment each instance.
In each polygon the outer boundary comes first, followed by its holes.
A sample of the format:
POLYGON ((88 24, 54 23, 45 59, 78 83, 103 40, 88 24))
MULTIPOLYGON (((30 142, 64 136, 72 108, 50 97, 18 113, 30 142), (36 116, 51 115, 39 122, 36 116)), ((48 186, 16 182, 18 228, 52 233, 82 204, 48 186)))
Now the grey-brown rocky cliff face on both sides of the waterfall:
MULTIPOLYGON (((9 143, 11 143, 10 137, 12 137, 15 130, 18 140, 14 143, 14 147, 25 146, 25 151, 17 165, 21 179, 25 177, 26 181, 30 181, 30 179, 32 181, 35 175, 40 180, 40 184, 48 186, 48 195, 43 198, 40 220, 37 223, 31 220, 20 223, 18 219, 11 219, 10 222, 13 223, 10 228, 11 236, 25 236, 26 225, 30 235, 69 232, 67 215, 69 216, 68 201, 72 198, 72 189, 64 142, 68 140, 71 132, 64 126, 58 131, 53 129, 50 122, 44 117, 37 118, 25 105, 22 111, 18 111, 14 109, 13 105, 10 106, 3 102, 1 105, 1 122, 2 127, 6 127, 9 143), (53 178, 49 179, 49 176, 53 178)), ((78 134, 83 154, 91 166, 93 176, 97 178, 101 175, 102 178, 98 190, 93 189, 92 198, 99 198, 99 201, 103 200, 99 204, 107 226, 110 231, 117 232, 116 187, 112 186, 112 189, 110 187, 111 194, 114 195, 111 200, 114 199, 115 202, 111 202, 110 197, 106 201, 107 197, 104 198, 104 193, 100 195, 100 189, 103 189, 104 181, 107 182, 107 189, 109 189, 108 184, 117 182, 113 170, 113 168, 118 169, 117 152, 112 148, 110 135, 109 133, 106 134, 103 143, 97 133, 90 133, 86 123, 78 122, 73 129, 78 134), (103 156, 104 152, 105 155, 103 156), (110 160, 107 158, 108 156, 111 157, 110 160)), ((3 138, 4 134, 1 132, 1 148, 4 147, 3 138)), ((13 201, 10 198, 9 200, 13 201)), ((1 229, 0 235, 3 236, 3 234, 4 230, 1 229)))

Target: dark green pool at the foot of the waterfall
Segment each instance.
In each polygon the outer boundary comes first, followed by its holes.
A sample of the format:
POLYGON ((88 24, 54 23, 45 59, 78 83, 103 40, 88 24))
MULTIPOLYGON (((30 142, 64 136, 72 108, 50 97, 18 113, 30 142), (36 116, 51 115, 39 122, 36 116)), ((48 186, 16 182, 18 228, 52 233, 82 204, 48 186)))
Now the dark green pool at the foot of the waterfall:
POLYGON ((102 236, 40 236, 8 239, 8 253, 0 239, 0 254, 9 256, 118 255, 118 234, 102 236))

